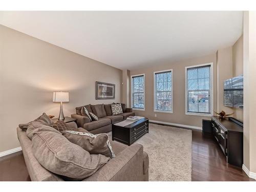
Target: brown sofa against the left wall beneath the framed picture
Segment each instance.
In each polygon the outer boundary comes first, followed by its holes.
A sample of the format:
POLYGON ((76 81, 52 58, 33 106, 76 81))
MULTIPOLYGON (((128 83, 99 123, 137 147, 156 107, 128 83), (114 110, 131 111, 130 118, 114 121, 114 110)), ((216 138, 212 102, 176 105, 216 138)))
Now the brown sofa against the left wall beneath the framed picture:
POLYGON ((118 123, 129 116, 134 116, 135 113, 131 108, 125 108, 125 104, 122 105, 122 114, 113 115, 111 110, 111 104, 95 104, 95 105, 84 105, 88 112, 92 112, 99 119, 97 121, 91 121, 86 116, 82 116, 81 109, 83 106, 76 108, 76 114, 72 114, 71 117, 75 118, 78 127, 83 127, 83 129, 93 133, 108 133, 112 129, 112 124, 118 123))

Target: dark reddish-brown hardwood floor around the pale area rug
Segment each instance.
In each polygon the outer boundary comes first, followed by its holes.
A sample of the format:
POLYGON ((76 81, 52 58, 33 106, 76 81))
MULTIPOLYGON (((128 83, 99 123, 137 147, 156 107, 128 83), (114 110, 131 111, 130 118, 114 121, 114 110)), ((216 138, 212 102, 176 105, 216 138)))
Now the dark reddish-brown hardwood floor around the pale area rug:
MULTIPOLYGON (((0 158, 0 181, 30 181, 22 152, 0 158)), ((192 131, 192 181, 255 181, 226 163, 217 143, 192 131)))

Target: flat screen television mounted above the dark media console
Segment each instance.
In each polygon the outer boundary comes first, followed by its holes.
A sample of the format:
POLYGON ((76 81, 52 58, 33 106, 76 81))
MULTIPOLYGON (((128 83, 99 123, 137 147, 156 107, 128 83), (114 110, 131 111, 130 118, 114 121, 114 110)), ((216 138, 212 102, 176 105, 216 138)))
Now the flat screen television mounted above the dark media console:
POLYGON ((224 105, 234 108, 244 106, 244 77, 239 75, 224 81, 224 105))

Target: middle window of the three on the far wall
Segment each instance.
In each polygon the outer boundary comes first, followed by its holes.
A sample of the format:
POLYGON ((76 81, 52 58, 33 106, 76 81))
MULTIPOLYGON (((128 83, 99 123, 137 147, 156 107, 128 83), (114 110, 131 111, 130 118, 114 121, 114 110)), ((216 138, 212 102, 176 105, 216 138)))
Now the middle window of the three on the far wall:
POLYGON ((173 70, 154 72, 154 111, 173 113, 173 70))

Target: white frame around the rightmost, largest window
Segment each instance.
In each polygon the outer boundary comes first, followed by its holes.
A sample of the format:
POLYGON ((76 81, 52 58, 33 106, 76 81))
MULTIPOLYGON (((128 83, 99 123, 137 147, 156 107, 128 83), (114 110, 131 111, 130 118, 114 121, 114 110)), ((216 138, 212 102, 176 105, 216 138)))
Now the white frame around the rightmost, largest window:
POLYGON ((197 115, 197 116, 206 116, 210 117, 214 114, 214 63, 203 63, 195 66, 185 67, 185 115, 197 115), (210 66, 210 113, 197 113, 197 112, 188 112, 187 111, 187 69, 197 68, 203 66, 210 66))

